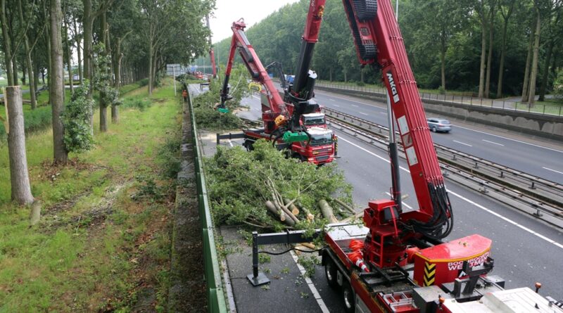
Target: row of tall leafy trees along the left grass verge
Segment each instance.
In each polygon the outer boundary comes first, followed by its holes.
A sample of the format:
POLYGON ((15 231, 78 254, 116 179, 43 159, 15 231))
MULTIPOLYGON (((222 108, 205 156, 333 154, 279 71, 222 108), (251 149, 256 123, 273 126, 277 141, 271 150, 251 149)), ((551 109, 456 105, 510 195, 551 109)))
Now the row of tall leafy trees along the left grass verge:
MULTIPOLYGON (((91 146, 84 141, 94 134, 94 91, 99 92, 100 131, 106 132, 107 108, 118 122, 122 84, 148 77, 152 94, 167 63, 189 63, 205 53, 209 30, 203 18, 214 6, 215 0, 0 0, 1 67, 8 87, 29 85, 32 110, 39 77, 44 83, 47 77, 54 162, 65 164, 69 152, 91 146), (68 112, 65 70, 71 93, 76 91, 68 112), (86 127, 81 119, 87 120, 86 127)), ((15 147, 9 143, 8 149, 15 147)), ((29 203, 32 198, 16 200, 29 203)))

